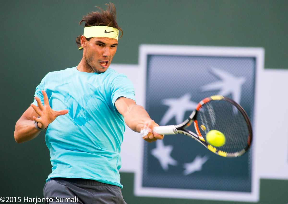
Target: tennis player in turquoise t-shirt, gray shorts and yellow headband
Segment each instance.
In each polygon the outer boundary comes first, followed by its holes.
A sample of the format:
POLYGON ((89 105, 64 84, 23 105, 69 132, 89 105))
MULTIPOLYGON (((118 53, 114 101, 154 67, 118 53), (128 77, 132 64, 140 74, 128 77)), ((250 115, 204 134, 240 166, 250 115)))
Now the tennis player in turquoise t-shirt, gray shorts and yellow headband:
POLYGON ((16 123, 18 143, 47 129, 52 173, 43 190, 46 203, 125 203, 118 171, 125 123, 136 132, 148 128, 148 142, 163 138, 152 133, 158 125, 136 104, 131 81, 109 68, 122 29, 113 3, 98 8, 81 20, 81 62, 48 73, 16 123))

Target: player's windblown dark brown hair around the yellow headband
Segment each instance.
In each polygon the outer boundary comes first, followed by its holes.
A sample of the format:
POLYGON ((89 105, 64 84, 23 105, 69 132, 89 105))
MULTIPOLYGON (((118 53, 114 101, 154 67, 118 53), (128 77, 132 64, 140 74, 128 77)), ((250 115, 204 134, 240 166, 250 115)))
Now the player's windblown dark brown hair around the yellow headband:
MULTIPOLYGON (((123 30, 118 26, 116 23, 116 7, 113 3, 107 4, 107 9, 104 11, 102 8, 96 6, 98 9, 100 9, 101 12, 91 12, 87 14, 87 16, 83 16, 83 19, 79 22, 81 24, 83 21, 85 21, 84 27, 89 27, 89 26, 110 26, 113 28, 117 28, 118 30, 121 31, 121 36, 123 35, 123 30)), ((78 48, 81 47, 80 39, 82 35, 79 35, 76 38, 76 43, 78 48)), ((89 41, 91 38, 87 38, 89 41)), ((82 48, 83 50, 83 48, 82 48)))

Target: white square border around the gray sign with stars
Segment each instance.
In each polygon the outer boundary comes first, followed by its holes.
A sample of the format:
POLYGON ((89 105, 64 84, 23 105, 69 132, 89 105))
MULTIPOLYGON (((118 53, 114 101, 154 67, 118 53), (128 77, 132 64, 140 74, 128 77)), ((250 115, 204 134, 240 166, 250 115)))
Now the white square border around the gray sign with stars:
MULTIPOLYGON (((179 46, 179 45, 141 45, 139 47, 139 68, 146 79, 147 55, 184 55, 184 56, 219 56, 219 57, 255 57, 255 101, 254 101, 254 118, 253 118, 253 162, 251 169, 251 192, 229 192, 216 190, 187 190, 173 188, 151 188, 142 186, 142 169, 143 169, 143 140, 141 140, 139 165, 135 172, 134 194, 137 196, 148 197, 168 197, 183 199, 204 199, 204 200, 223 200, 223 201, 259 201, 259 170, 257 169, 255 145, 257 136, 257 127, 259 127, 259 110, 257 101, 259 98, 259 75, 264 71, 264 49, 258 47, 208 47, 208 46, 179 46)), ((144 80, 144 93, 146 93, 146 80, 144 80)), ((146 101, 144 94, 144 101, 146 101)))

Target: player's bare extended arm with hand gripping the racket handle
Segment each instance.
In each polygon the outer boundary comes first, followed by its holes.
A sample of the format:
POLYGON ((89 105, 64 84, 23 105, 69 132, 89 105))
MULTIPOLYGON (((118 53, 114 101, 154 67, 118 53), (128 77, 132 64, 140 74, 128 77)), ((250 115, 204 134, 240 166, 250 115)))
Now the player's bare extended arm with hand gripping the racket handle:
POLYGON ((158 139, 163 139, 163 135, 153 132, 155 126, 159 126, 152 120, 147 111, 136 104, 130 98, 119 97, 115 101, 115 107, 121 115, 124 116, 125 123, 135 132, 140 132, 141 129, 147 128, 149 134, 143 137, 147 142, 153 142, 158 139))

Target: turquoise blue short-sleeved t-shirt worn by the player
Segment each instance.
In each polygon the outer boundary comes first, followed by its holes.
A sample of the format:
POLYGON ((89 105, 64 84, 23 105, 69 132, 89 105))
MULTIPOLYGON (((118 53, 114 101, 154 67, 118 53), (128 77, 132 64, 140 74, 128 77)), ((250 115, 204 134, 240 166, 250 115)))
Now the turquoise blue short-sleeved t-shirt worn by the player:
POLYGON ((98 74, 73 67, 42 79, 35 96, 44 104, 41 90, 53 110, 69 110, 46 131, 52 164, 48 179, 86 178, 122 188, 118 170, 125 123, 114 103, 122 96, 135 100, 132 82, 111 68, 98 74))

